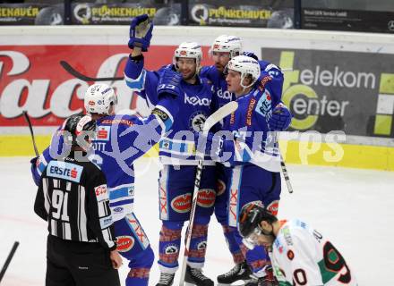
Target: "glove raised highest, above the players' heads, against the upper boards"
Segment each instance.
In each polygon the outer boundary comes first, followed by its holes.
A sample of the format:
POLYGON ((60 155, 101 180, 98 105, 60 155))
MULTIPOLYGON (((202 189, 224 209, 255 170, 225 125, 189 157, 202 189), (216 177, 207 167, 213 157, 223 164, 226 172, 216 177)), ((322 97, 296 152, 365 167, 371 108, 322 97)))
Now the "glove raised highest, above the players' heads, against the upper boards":
POLYGON ((153 23, 147 14, 133 18, 130 24, 129 47, 139 46, 142 52, 148 51, 150 39, 152 38, 153 23))

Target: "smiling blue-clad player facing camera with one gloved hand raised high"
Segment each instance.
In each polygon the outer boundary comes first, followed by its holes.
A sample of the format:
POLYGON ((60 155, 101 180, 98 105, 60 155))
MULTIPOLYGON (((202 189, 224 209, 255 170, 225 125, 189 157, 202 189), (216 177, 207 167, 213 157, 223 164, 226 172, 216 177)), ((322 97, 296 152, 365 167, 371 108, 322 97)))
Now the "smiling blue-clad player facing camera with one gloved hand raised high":
MULTIPOLYGON (((163 168, 159 174, 159 217, 162 227, 159 232, 160 279, 157 286, 171 285, 178 269, 181 248, 181 232, 184 222, 189 219, 193 197, 193 185, 198 161, 195 158, 193 132, 201 130, 202 124, 211 113, 212 89, 207 80, 201 80, 201 46, 185 42, 176 48, 173 64, 158 71, 143 68, 142 51, 150 46, 146 32, 151 29, 147 15, 132 21, 129 47, 133 52, 124 69, 126 84, 138 90, 150 106, 157 104, 158 81, 163 69, 173 69, 182 74, 180 87, 183 104, 171 128, 171 132, 159 142, 159 158, 163 168), (148 28, 150 27, 150 28, 148 28), (140 38, 135 38, 139 35, 140 38)), ((216 197, 215 163, 207 156, 202 171, 196 215, 193 225, 193 238, 186 267, 185 282, 198 286, 210 286, 213 282, 201 272, 205 261, 208 224, 213 213, 216 197)))

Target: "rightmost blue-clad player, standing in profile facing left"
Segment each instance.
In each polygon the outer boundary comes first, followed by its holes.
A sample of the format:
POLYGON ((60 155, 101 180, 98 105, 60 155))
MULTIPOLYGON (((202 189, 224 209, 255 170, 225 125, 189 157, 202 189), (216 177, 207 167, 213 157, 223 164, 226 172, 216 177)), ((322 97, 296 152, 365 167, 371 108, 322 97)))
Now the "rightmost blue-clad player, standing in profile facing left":
MULTIPOLYGON (((223 126, 234 134, 235 140, 226 140, 223 151, 231 154, 230 169, 226 169, 227 222, 235 240, 243 248, 242 238, 234 230, 242 206, 261 201, 276 214, 280 197, 280 156, 274 132, 270 132, 273 106, 280 102, 281 84, 262 71, 251 57, 238 55, 228 62, 227 90, 236 95, 238 109, 223 126)), ((265 252, 246 250, 245 258, 253 270, 245 285, 275 285, 270 260, 265 252)))

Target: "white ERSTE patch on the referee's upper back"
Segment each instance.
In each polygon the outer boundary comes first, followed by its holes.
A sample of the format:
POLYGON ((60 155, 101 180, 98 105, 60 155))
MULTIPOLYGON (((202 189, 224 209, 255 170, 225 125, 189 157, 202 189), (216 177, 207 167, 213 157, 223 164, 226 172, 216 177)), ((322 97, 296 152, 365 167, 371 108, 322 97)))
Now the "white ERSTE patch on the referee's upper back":
POLYGON ((83 167, 77 164, 51 161, 47 165, 47 176, 80 182, 83 167))

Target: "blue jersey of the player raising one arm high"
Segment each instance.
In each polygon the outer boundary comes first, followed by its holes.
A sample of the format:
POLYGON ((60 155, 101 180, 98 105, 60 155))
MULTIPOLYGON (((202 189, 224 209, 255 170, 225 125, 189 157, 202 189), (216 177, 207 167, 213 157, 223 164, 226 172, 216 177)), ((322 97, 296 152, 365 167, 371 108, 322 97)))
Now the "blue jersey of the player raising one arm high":
MULTIPOLYGON (((172 67, 167 65, 158 71, 147 71, 143 68, 143 59, 133 61, 130 58, 124 69, 124 79, 129 88, 139 92, 152 108, 158 102, 158 80, 164 69, 172 67)), ((208 80, 197 78, 196 84, 189 84, 181 80, 181 89, 184 93, 183 105, 180 106, 179 114, 173 123, 171 130, 159 142, 159 156, 162 164, 171 165, 195 165, 195 139, 194 132, 202 129, 202 126, 211 114, 211 100, 213 86, 208 80)), ((206 156, 204 164, 215 164, 210 156, 206 156)))

